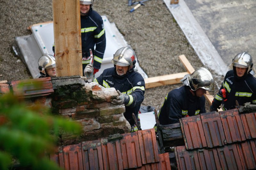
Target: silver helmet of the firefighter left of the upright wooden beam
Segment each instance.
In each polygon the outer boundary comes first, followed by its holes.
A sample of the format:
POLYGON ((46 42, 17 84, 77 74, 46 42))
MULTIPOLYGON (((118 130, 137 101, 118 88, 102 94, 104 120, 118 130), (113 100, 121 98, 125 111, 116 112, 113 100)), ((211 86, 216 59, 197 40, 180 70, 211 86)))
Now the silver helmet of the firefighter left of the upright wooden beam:
POLYGON ((38 69, 42 76, 46 76, 45 69, 56 67, 55 57, 50 54, 43 54, 38 60, 38 69))

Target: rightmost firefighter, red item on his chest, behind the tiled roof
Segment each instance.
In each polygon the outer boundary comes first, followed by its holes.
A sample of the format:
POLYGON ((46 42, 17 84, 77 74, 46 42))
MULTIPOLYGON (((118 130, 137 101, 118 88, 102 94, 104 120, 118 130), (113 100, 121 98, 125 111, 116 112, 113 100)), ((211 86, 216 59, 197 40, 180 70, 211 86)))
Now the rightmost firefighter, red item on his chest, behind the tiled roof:
POLYGON ((223 110, 236 108, 236 100, 240 106, 246 102, 256 104, 256 79, 252 71, 252 56, 247 52, 237 54, 233 61, 233 70, 229 70, 221 84, 219 92, 212 101, 210 111, 217 111, 220 105, 223 110))

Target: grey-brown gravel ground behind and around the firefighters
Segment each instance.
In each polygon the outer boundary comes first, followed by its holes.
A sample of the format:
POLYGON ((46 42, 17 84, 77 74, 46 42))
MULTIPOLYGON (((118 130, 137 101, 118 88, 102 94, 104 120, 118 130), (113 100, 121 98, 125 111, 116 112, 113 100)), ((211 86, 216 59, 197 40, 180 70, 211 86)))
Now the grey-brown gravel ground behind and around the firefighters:
MULTIPOLYGON (((93 7, 116 24, 135 50, 140 67, 148 77, 186 71, 178 58, 182 54, 194 68, 204 67, 162 0, 147 1, 132 13, 129 12, 132 7, 127 4, 127 0, 95 0, 93 7)), ((31 34, 28 26, 52 21, 52 0, 0 0, 0 11, 0 81, 31 78, 25 64, 14 55, 12 45, 15 37, 31 34)), ((210 71, 220 85, 223 77, 210 71)), ((181 84, 147 89, 142 105, 159 109, 165 95, 179 86, 181 84)))

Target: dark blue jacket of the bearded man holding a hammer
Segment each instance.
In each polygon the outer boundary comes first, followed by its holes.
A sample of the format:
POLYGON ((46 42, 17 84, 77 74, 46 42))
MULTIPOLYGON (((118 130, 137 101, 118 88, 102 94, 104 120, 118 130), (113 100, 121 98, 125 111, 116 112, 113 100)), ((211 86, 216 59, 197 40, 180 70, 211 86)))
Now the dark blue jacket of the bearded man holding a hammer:
POLYGON ((116 90, 129 95, 130 100, 124 103, 124 117, 131 125, 134 125, 132 113, 138 118, 140 104, 144 100, 145 93, 145 81, 140 73, 131 70, 127 71, 124 76, 118 76, 116 67, 112 67, 105 69, 98 78, 94 79, 94 82, 106 88, 114 87, 116 90))

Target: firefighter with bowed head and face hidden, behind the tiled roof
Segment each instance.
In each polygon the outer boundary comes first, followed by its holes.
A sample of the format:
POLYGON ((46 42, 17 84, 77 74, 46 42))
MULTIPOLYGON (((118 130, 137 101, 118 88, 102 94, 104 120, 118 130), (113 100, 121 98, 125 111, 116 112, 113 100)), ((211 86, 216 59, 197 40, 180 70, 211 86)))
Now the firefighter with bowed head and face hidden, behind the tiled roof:
POLYGON ((184 86, 173 89, 165 96, 158 113, 161 125, 178 123, 182 117, 205 113, 204 94, 214 94, 212 74, 203 67, 185 75, 180 81, 184 86))

